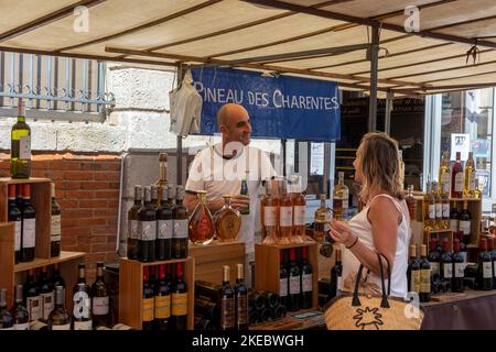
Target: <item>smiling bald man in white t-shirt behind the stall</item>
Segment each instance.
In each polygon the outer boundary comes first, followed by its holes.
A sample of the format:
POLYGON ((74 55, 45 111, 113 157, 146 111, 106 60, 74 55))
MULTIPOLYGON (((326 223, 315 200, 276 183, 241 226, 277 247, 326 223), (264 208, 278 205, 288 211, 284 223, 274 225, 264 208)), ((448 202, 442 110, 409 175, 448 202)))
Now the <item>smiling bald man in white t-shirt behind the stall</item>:
MULTIPOLYGON (((223 195, 231 195, 237 209, 249 206, 249 215, 242 216, 238 240, 246 243, 247 264, 255 253, 255 219, 261 180, 274 176, 269 157, 259 148, 249 146, 251 123, 248 111, 240 105, 227 103, 217 112, 217 125, 222 143, 196 154, 186 182, 184 204, 194 210, 198 204, 196 191, 207 191, 207 206, 214 215, 224 206, 223 195), (246 178, 249 196, 240 195, 241 180, 246 178)), ((250 277, 247 276, 247 283, 250 277)))

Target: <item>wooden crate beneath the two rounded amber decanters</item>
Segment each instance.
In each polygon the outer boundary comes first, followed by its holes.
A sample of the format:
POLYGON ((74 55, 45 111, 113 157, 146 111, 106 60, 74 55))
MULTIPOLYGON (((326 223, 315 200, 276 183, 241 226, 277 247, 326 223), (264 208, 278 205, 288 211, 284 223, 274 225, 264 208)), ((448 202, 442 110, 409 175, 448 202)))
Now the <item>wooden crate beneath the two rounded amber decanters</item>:
MULTIPOLYGON (((190 243, 190 256, 195 258, 195 279, 214 284, 223 282, 223 265, 230 267, 230 282, 236 282, 236 264, 245 264, 245 242, 213 241, 208 245, 190 243)), ((245 273, 247 270, 245 268, 245 273)))

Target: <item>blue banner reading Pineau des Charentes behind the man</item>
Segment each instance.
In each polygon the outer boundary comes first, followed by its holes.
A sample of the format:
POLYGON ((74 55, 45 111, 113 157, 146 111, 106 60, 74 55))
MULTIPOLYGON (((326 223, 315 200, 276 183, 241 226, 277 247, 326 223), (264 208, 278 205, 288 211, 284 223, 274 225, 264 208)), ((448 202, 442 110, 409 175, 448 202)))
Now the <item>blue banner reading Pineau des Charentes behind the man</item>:
POLYGON ((217 111, 228 102, 244 106, 254 138, 332 142, 341 136, 337 84, 299 77, 266 77, 233 68, 192 69, 203 98, 201 134, 218 133, 217 111))

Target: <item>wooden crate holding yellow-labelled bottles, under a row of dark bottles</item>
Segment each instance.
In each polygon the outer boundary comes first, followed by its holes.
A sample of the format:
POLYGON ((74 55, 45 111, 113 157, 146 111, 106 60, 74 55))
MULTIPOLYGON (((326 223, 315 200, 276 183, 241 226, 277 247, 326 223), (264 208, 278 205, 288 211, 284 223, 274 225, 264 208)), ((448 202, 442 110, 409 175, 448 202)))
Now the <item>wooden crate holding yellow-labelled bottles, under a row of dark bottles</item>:
POLYGON ((185 263, 184 282, 187 285, 187 329, 194 328, 195 260, 157 261, 141 263, 120 258, 119 266, 119 320, 134 330, 142 327, 143 267, 161 264, 185 263))

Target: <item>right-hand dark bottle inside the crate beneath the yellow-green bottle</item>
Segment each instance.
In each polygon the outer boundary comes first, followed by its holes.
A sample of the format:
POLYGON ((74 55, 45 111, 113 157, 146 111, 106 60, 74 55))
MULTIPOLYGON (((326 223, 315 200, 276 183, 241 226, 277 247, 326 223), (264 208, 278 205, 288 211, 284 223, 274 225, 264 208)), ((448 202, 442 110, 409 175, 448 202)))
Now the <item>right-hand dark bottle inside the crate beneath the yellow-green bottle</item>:
POLYGON ((21 262, 34 261, 36 241, 36 210, 31 205, 31 185, 22 185, 21 262))

